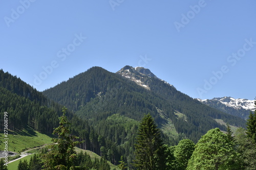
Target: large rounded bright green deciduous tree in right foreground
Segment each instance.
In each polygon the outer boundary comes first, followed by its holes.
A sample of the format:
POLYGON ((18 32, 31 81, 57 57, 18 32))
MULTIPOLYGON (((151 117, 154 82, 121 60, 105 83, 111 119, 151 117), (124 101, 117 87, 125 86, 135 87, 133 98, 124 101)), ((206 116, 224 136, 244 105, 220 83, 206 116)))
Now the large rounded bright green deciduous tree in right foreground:
POLYGON ((186 169, 241 169, 233 144, 219 128, 209 130, 196 144, 186 169))

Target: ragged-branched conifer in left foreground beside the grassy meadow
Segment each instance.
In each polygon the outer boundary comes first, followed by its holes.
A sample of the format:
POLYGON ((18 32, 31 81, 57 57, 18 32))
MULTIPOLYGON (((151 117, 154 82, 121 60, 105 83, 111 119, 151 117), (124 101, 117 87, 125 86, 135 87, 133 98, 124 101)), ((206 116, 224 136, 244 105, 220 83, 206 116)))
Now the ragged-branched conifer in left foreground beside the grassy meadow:
POLYGON ((73 141, 78 137, 70 135, 70 123, 65 115, 66 111, 67 108, 63 107, 63 114, 59 117, 59 127, 53 131, 53 134, 57 134, 58 138, 52 139, 54 143, 50 146, 51 151, 42 156, 43 169, 75 169, 75 146, 79 142, 73 141))

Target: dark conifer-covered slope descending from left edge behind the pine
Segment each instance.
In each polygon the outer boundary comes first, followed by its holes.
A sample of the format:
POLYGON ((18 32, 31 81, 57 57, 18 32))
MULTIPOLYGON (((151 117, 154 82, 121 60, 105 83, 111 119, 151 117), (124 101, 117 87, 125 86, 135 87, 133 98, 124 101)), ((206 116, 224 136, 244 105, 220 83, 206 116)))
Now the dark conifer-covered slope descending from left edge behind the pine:
MULTIPOLYGON (((58 127, 62 107, 16 76, 0 70, 0 115, 3 117, 4 112, 8 112, 8 129, 19 131, 31 127, 41 133, 51 134, 58 127)), ((121 151, 118 151, 114 142, 98 135, 87 120, 80 119, 71 111, 67 111, 67 116, 72 134, 83 141, 78 147, 98 155, 101 154, 100 147, 104 147, 106 151, 115 152, 115 155, 109 154, 113 163, 120 160, 121 151)), ((3 130, 4 122, 1 121, 0 125, 0 130, 3 130)))

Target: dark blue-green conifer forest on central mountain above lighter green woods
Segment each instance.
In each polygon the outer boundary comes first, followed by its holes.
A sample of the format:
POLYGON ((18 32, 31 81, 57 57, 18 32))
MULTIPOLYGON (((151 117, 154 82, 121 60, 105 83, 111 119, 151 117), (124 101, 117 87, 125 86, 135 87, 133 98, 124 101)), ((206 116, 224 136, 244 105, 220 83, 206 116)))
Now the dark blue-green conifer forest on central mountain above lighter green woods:
POLYGON ((43 93, 76 111, 80 117, 91 119, 92 124, 116 113, 139 121, 144 113, 150 112, 160 126, 166 120, 159 116, 159 108, 173 121, 180 134, 194 142, 209 129, 225 130, 225 126, 212 118, 228 120, 232 125, 245 125, 245 120, 205 106, 159 79, 146 77, 143 82, 151 90, 103 68, 93 67, 43 93), (175 110, 185 114, 187 121, 177 118, 175 110))

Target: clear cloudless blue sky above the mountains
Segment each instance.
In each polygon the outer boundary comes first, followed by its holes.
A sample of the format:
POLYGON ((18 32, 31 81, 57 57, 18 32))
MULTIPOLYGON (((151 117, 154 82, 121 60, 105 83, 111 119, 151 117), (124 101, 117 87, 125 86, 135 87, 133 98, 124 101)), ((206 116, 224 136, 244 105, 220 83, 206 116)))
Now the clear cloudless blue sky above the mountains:
POLYGON ((192 98, 253 100, 255 6, 253 0, 1 0, 0 68, 42 91, 93 66, 111 72, 144 66, 192 98))

